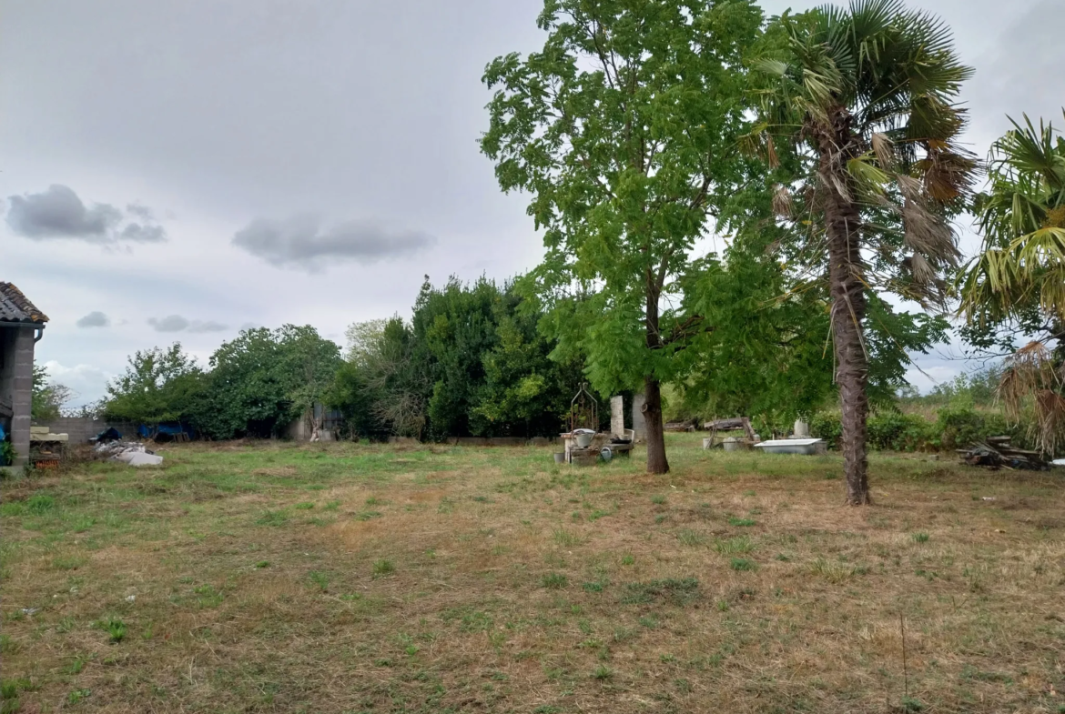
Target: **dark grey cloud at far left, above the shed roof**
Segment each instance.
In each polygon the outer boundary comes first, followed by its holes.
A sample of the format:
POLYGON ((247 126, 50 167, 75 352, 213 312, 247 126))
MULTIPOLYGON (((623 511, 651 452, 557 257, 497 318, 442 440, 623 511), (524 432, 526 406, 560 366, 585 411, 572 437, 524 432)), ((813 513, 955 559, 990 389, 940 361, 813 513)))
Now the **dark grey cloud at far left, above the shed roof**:
POLYGON ((63 184, 52 184, 38 194, 10 196, 7 201, 7 226, 16 235, 34 240, 75 238, 101 245, 166 240, 166 231, 153 223, 147 206, 132 204, 122 213, 110 203, 85 205, 63 184))

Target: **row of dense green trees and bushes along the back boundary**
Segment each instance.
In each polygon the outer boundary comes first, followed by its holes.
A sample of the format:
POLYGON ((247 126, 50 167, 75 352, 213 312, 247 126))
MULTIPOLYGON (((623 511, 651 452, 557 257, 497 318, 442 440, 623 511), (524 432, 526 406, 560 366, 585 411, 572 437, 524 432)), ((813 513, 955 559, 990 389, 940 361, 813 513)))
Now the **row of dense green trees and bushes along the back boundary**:
POLYGON ((180 344, 138 351, 100 411, 180 421, 213 439, 281 435, 315 403, 344 415, 344 436, 557 434, 584 362, 551 358, 541 317, 511 283, 426 279, 409 321, 353 325, 343 356, 313 327, 292 325, 245 330, 207 365, 180 344))

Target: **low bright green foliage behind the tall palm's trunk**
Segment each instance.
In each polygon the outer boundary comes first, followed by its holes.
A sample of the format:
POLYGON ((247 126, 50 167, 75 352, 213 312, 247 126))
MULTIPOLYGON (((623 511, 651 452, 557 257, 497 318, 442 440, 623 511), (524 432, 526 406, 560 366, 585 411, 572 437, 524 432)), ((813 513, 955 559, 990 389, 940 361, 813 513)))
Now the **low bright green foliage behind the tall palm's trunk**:
MULTIPOLYGON (((782 236, 765 226, 768 203, 764 196, 737 196, 731 206, 737 240, 724 262, 699 265, 688 296, 714 330, 675 360, 679 376, 670 420, 749 415, 759 430, 786 431, 835 396, 826 285, 793 289, 794 276, 772 256, 773 238, 782 236)), ((911 354, 945 339, 948 323, 897 312, 870 296, 867 325, 869 395, 873 403, 891 404, 906 384, 911 354)))

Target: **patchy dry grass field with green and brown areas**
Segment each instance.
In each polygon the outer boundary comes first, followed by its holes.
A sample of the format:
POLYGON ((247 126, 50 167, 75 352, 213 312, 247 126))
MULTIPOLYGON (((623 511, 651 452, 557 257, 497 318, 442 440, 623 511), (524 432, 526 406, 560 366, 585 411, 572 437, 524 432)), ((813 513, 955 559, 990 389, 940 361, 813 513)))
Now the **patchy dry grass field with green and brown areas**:
POLYGON ((669 436, 4 482, 3 712, 1065 712, 1065 478, 669 436))

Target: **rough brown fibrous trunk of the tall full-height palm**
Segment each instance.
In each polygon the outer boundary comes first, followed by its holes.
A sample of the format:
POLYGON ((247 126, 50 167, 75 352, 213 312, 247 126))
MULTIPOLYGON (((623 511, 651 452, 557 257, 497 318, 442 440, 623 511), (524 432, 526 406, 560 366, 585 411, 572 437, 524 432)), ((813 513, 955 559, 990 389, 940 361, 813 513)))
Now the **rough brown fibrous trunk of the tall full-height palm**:
POLYGON ((831 129, 819 132, 821 155, 818 170, 826 196, 823 209, 829 244, 836 382, 842 414, 843 471, 847 475, 847 502, 866 505, 870 503, 866 458, 869 361, 863 335, 866 295, 859 239, 862 216, 853 198, 853 182, 847 171, 847 162, 859 151, 847 111, 840 109, 831 116, 831 129))

